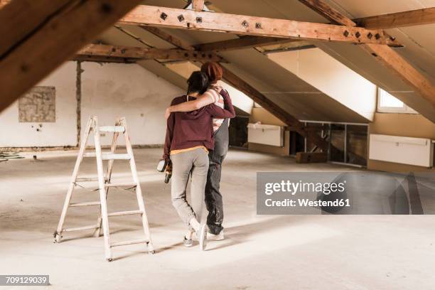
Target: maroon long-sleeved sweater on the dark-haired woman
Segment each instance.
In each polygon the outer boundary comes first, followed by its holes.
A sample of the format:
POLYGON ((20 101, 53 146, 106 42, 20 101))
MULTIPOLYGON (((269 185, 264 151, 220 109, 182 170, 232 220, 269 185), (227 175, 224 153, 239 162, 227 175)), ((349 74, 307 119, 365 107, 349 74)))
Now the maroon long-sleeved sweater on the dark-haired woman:
MULTIPOLYGON (((219 119, 235 117, 230 96, 225 90, 222 90, 220 95, 224 98, 225 109, 215 104, 208 104, 192 112, 171 113, 166 126, 163 159, 169 160, 171 150, 188 149, 195 146, 205 146, 213 150, 215 147, 213 117, 219 119)), ((186 102, 186 99, 186 96, 176 97, 172 100, 171 106, 186 102)), ((195 100, 195 98, 189 97, 189 100, 195 100)))

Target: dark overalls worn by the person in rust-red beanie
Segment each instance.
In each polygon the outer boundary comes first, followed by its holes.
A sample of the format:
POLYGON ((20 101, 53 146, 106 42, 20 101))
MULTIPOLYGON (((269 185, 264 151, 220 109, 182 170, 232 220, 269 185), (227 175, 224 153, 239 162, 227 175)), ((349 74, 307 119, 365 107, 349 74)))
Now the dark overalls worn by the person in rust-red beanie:
POLYGON ((208 154, 210 166, 205 185, 205 206, 208 210, 207 225, 213 235, 218 235, 223 230, 223 203, 219 188, 222 162, 228 151, 228 122, 228 119, 225 119, 215 132, 215 149, 208 154))

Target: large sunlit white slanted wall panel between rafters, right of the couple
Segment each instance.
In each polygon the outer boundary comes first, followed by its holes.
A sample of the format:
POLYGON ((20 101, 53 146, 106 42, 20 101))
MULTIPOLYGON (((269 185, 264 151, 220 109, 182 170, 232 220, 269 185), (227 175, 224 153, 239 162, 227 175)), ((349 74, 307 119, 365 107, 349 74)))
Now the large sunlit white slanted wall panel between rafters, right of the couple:
POLYGON ((373 121, 377 87, 319 48, 269 53, 275 63, 373 121))

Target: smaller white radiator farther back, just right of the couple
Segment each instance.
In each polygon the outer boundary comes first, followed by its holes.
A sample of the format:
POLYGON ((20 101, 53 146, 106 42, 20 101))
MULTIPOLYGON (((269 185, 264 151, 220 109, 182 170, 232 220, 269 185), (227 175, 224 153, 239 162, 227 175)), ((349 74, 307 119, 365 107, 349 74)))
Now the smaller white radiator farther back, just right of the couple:
POLYGON ((274 125, 248 124, 248 142, 284 146, 284 128, 274 125))

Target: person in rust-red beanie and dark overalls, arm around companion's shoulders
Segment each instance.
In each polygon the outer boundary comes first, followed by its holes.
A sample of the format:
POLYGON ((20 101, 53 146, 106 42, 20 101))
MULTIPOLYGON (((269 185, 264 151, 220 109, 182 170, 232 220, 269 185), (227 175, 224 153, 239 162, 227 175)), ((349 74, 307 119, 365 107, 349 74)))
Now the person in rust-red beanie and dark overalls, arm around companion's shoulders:
MULTIPOLYGON (((200 109, 208 104, 215 104, 224 108, 224 97, 230 97, 218 81, 222 79, 222 68, 218 63, 205 63, 201 67, 210 80, 210 88, 198 99, 176 104, 166 109, 166 118, 171 112, 190 112, 200 109)), ((223 203, 222 194, 220 193, 220 175, 222 171, 222 162, 228 151, 228 126, 229 119, 213 119, 213 134, 215 138, 215 149, 210 151, 208 158, 210 166, 208 168, 207 183, 205 185, 205 205, 208 210, 208 240, 223 240, 224 232, 222 227, 223 221, 223 203)))

